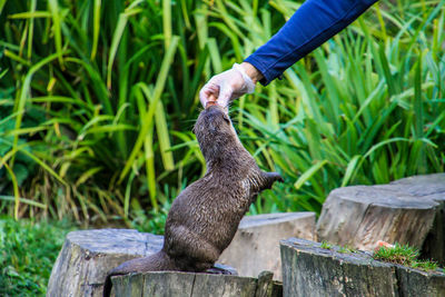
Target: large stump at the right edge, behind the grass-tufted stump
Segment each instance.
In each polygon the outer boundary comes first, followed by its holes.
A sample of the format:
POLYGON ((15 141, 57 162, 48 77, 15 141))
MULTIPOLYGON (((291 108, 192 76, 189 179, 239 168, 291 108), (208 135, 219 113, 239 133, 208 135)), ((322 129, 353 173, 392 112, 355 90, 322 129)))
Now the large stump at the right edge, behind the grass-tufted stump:
POLYGON ((378 240, 426 245, 436 260, 443 259, 444 196, 445 174, 335 189, 323 206, 318 239, 365 250, 378 240))

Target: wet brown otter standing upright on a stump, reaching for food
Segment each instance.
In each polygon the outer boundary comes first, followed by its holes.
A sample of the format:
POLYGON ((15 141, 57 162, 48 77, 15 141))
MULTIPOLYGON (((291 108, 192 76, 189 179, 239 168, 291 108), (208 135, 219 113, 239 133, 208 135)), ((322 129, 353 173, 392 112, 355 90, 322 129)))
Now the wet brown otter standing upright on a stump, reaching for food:
POLYGON ((257 195, 275 181, 283 181, 279 174, 259 169, 241 145, 227 109, 210 101, 200 112, 194 132, 207 172, 172 202, 162 249, 111 269, 103 296, 109 296, 111 276, 116 275, 161 270, 215 273, 218 268, 212 268, 214 264, 230 244, 257 195))

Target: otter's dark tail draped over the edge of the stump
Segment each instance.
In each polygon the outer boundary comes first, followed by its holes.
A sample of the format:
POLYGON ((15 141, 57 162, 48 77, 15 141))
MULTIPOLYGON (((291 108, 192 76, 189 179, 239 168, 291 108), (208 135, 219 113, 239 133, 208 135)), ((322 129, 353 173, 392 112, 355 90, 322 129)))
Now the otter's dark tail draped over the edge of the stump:
POLYGON ((127 275, 130 273, 146 273, 146 271, 171 271, 179 270, 175 261, 166 254, 160 250, 151 256, 145 258, 136 258, 122 263, 118 267, 111 269, 103 284, 103 297, 109 297, 111 294, 111 277, 127 275))

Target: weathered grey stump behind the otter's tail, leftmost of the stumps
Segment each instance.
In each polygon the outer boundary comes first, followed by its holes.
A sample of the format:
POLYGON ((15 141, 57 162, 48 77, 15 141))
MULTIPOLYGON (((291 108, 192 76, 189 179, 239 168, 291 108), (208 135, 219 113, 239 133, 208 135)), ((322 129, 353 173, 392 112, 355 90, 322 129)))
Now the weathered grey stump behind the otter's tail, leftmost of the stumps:
POLYGON ((127 229, 69 232, 52 267, 47 296, 102 296, 110 269, 160 250, 162 241, 162 236, 127 229))

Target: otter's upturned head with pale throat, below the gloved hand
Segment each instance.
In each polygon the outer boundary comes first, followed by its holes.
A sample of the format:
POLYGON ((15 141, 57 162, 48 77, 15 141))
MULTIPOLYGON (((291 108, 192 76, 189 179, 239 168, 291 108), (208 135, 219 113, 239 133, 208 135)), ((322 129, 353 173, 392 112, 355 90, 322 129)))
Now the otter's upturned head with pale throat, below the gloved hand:
POLYGON ((206 160, 215 160, 240 145, 226 109, 208 106, 198 117, 194 132, 206 160))

